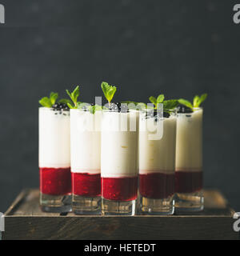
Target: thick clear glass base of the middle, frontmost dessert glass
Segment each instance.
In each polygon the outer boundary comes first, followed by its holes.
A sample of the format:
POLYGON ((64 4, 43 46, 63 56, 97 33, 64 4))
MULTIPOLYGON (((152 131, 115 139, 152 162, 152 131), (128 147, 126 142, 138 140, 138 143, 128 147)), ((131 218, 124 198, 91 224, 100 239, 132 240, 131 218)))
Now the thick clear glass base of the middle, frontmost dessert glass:
POLYGON ((102 214, 133 216, 136 214, 136 201, 118 202, 102 198, 102 214))

